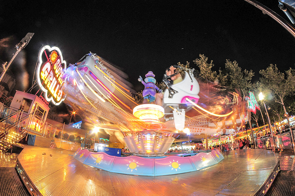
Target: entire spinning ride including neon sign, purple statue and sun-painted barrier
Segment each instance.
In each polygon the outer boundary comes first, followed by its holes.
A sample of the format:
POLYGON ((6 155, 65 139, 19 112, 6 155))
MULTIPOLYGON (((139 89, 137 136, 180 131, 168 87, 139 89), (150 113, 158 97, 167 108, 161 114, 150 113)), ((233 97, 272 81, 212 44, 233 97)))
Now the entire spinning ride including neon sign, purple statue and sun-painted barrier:
MULTIPOLYGON (((214 113, 200 106, 200 87, 194 69, 180 67, 174 71, 174 74, 164 74, 165 89, 155 85, 152 71, 145 75, 145 79, 140 76, 138 80, 145 89, 143 103, 138 104, 131 96, 127 75, 96 54, 90 52, 66 68, 60 50, 44 46, 39 53, 37 79, 47 101, 55 105, 64 101, 89 126, 115 135, 127 145, 132 155, 117 157, 79 148, 74 154, 75 159, 106 171, 159 176, 196 171, 219 163, 224 158, 217 150, 169 157, 165 153, 180 134, 194 137, 220 131, 231 133, 233 129, 226 129, 224 123, 218 124, 217 119, 227 122, 224 117, 228 117, 235 119, 235 123, 239 119, 237 107, 235 110, 230 108, 230 112, 214 113), (191 109, 202 112, 192 113, 191 109), (213 119, 214 116, 217 119, 213 119), (214 122, 211 127, 209 122, 214 122), (125 165, 128 168, 122 169, 125 165)), ((227 122, 228 127, 233 124, 233 120, 227 122)))

